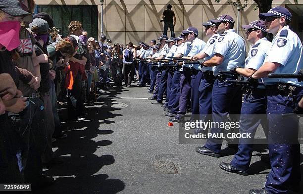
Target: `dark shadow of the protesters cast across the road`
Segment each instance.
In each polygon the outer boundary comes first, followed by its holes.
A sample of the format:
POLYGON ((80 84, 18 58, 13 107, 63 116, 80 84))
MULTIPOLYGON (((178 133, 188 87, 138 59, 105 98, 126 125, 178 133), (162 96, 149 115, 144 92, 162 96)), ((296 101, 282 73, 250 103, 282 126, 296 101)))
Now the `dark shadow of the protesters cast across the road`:
MULTIPOLYGON (((110 95, 117 95, 119 91, 112 91, 110 95)), ((46 175, 56 177, 55 184, 42 188, 35 194, 116 194, 124 190, 123 181, 109 179, 110 175, 101 170, 103 166, 115 162, 114 156, 103 149, 112 144, 106 138, 114 131, 103 129, 103 126, 114 123, 111 118, 122 116, 113 113, 117 109, 110 107, 115 100, 103 99, 96 103, 100 104, 103 101, 100 107, 87 108, 86 120, 62 123, 63 133, 68 137, 57 140, 53 147, 58 147, 55 153, 64 160, 64 163, 44 171, 46 175), (106 109, 102 109, 103 105, 107 106, 106 109), (98 136, 100 141, 93 140, 98 136)), ((63 108, 61 115, 63 121, 67 117, 67 110, 63 108)))

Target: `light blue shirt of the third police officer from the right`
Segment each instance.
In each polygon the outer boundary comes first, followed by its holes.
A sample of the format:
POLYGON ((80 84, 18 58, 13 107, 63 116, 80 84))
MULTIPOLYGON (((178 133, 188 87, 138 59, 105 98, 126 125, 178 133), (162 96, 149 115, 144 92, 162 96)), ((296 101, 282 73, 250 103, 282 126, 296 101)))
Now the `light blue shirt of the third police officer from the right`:
POLYGON ((229 71, 235 67, 244 67, 246 58, 245 42, 236 30, 226 30, 216 43, 215 53, 224 56, 220 65, 212 67, 213 75, 217 76, 219 71, 229 71))

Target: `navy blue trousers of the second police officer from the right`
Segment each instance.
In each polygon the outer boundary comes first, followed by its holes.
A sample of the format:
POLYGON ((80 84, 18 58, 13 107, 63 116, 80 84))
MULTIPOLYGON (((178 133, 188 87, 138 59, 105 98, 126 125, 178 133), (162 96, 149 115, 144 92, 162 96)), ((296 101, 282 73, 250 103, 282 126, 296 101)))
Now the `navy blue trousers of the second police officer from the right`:
POLYGON ((251 133, 252 139, 240 139, 239 149, 231 161, 232 166, 239 170, 248 170, 253 154, 253 137, 257 127, 261 124, 267 137, 268 123, 266 117, 266 97, 265 89, 254 89, 252 94, 246 94, 242 103, 240 116, 241 134, 251 133))

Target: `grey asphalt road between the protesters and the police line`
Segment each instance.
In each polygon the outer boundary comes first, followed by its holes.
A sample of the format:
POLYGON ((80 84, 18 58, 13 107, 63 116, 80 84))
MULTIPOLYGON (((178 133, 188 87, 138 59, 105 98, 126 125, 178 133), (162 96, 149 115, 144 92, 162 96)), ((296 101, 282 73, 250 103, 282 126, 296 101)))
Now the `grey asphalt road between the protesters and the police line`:
POLYGON ((35 193, 248 194, 263 187, 270 166, 258 155, 267 153, 266 146, 255 147, 249 176, 225 172, 219 163, 229 162, 235 151, 223 146, 226 156, 213 158, 197 153, 199 144, 179 144, 178 125, 168 126, 150 96, 146 88, 114 88, 87 107, 81 122, 67 122, 63 106, 68 138, 53 147, 64 163, 44 169, 55 184, 35 193), (156 172, 156 161, 173 162, 178 174, 156 172))

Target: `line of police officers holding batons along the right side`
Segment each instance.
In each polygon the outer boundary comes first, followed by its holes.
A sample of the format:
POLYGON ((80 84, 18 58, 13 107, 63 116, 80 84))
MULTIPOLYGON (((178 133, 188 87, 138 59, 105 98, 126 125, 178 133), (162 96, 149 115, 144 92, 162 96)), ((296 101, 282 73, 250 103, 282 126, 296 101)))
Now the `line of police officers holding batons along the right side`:
MULTIPOLYGON (((303 83, 298 79, 269 79, 267 75, 299 72, 303 68, 303 47, 288 26, 292 18, 288 9, 277 6, 259 14, 259 18, 243 26, 247 30, 247 41, 253 44, 247 57, 245 41, 233 29, 235 22, 229 15, 203 23, 209 38, 206 44, 198 38, 195 27, 184 30, 178 38, 159 37, 159 48, 153 47, 152 55, 140 56, 153 61, 151 80, 156 88, 149 99, 155 100, 152 104, 161 104, 172 122, 184 122, 186 108, 191 105, 191 120, 196 120, 194 115, 199 114, 198 119, 202 121, 226 122, 229 115, 234 121, 240 120, 239 133, 253 136, 261 124, 268 141, 271 171, 265 187, 251 190, 250 194, 298 192, 301 181, 299 118, 287 119, 283 114, 298 109, 303 83), (272 42, 266 39, 266 32, 274 35, 272 42), (171 57, 182 59, 174 66, 171 57), (198 60, 200 62, 193 62, 198 60), (239 76, 245 78, 244 87, 235 83, 239 76), (209 115, 212 118, 208 118, 209 115), (267 118, 258 115, 267 115, 267 118)), ((200 130, 204 129, 195 132, 200 130)), ((211 133, 223 130, 212 128, 211 133)), ((220 168, 248 175, 253 139, 235 139, 231 143, 238 145, 238 152, 231 162, 221 162, 220 168)), ((196 151, 220 157, 221 146, 222 139, 210 138, 196 151)))

